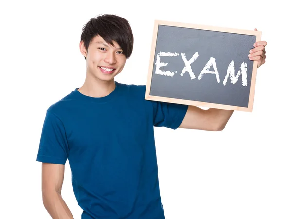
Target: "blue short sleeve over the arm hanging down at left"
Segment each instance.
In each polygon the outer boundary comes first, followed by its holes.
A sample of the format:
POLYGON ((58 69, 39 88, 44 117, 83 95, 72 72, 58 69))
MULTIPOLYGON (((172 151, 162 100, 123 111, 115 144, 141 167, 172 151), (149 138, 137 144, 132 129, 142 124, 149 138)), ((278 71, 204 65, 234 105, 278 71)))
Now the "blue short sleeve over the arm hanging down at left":
POLYGON ((69 148, 66 131, 62 121, 47 110, 40 137, 37 161, 65 164, 69 148))

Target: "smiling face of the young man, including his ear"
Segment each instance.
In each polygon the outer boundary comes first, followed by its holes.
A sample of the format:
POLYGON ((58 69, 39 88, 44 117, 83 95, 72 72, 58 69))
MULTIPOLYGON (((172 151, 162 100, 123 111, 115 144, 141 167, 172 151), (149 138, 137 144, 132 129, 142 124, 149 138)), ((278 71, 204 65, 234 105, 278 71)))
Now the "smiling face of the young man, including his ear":
POLYGON ((111 81, 120 73, 126 63, 126 56, 120 46, 105 42, 99 35, 94 37, 88 46, 87 53, 83 42, 80 42, 80 51, 86 57, 87 73, 91 78, 101 81, 111 81))

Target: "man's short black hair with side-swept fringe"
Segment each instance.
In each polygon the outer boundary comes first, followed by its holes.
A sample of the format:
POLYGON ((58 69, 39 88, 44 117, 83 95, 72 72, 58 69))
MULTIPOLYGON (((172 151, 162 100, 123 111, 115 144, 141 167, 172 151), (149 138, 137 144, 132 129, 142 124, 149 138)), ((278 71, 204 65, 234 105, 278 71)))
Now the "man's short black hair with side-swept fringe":
POLYGON ((113 41, 115 41, 122 48, 126 58, 131 56, 134 37, 130 24, 125 18, 108 14, 91 18, 83 26, 81 34, 81 41, 84 42, 86 51, 92 39, 97 35, 112 46, 113 41))

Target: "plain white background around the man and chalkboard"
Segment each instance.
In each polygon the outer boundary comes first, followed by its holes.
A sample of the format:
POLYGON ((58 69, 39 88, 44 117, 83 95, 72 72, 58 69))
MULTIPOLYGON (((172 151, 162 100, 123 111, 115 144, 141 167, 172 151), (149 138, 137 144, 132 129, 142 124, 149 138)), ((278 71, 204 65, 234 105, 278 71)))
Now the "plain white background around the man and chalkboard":
MULTIPOLYGON (((127 84, 146 84, 154 19, 262 31, 267 59, 252 113, 236 111, 221 132, 155 128, 161 197, 166 219, 292 219, 290 8, 284 0, 169 2, 1 1, 1 219, 51 218, 36 161, 43 120, 83 84, 81 30, 98 14, 131 24, 133 54, 116 77, 127 84)), ((80 218, 68 162, 62 196, 80 218)))

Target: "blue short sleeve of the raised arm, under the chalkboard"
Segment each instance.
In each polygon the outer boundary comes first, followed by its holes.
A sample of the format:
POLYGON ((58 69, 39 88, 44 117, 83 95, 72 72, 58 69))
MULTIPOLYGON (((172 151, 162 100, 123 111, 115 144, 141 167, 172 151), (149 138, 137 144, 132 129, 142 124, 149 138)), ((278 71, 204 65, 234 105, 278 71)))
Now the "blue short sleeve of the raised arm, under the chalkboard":
POLYGON ((183 122, 188 105, 152 101, 155 127, 177 129, 183 122))

